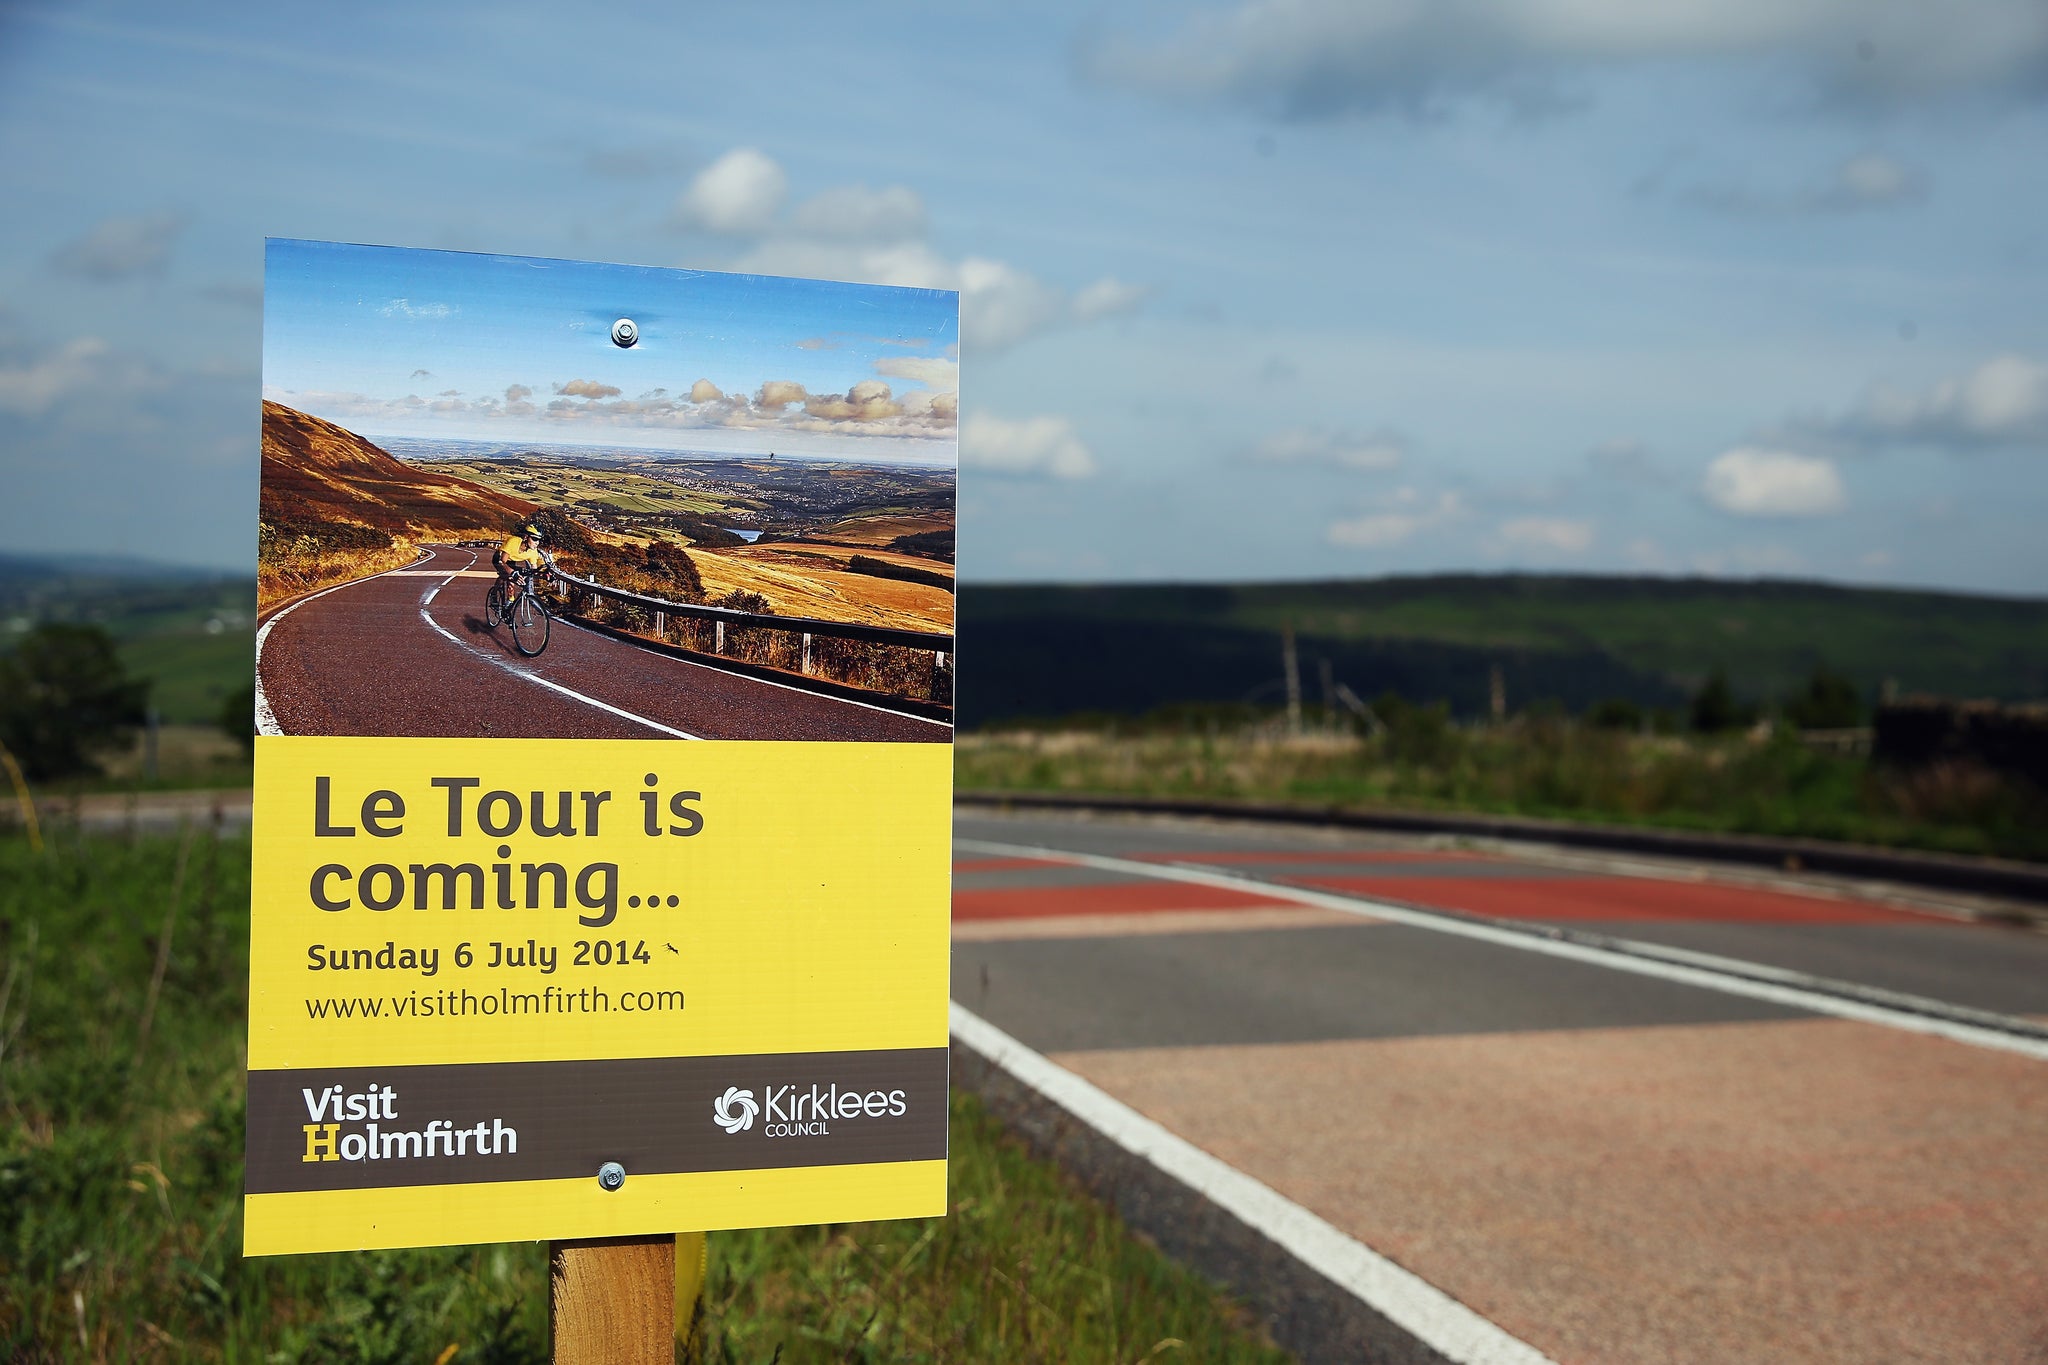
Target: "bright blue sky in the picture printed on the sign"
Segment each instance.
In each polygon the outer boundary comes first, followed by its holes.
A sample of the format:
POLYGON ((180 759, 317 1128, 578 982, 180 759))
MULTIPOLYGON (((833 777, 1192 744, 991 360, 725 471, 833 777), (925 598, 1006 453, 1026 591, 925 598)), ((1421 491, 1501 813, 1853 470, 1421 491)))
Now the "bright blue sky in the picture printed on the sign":
POLYGON ((360 436, 956 458, 950 291, 270 239, 262 311, 262 395, 360 436))

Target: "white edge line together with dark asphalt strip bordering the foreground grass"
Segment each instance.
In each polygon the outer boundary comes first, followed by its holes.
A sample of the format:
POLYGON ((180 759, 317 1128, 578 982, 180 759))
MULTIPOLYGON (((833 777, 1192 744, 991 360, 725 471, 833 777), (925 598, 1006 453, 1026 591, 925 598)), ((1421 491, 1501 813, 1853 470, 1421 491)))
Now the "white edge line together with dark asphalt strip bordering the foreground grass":
POLYGON ((1303 1361, 1548 1365, 1303 1205, 952 1005, 952 1076, 1167 1254, 1221 1281, 1303 1361))

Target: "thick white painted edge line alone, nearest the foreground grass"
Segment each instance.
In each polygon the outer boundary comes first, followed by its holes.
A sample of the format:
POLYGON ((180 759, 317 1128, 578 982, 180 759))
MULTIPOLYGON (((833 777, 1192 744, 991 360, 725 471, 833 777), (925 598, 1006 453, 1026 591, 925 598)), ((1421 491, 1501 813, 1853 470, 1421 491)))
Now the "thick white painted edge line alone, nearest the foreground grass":
POLYGON ((952 1038, 1133 1156, 1253 1228, 1454 1365, 1552 1365, 1430 1281, 954 1003, 952 1038))

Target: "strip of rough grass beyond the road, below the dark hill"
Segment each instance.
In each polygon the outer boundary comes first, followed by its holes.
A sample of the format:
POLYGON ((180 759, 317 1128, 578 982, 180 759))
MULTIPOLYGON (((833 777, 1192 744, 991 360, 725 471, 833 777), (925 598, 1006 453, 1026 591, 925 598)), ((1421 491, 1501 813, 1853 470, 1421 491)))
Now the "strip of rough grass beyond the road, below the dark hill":
POLYGON ((1978 767, 1915 774, 1769 739, 1622 735, 1565 718, 1499 729, 1432 710, 1374 739, 1272 729, 973 733, 963 790, 1409 806, 1839 839, 2048 860, 2048 798, 1978 767))

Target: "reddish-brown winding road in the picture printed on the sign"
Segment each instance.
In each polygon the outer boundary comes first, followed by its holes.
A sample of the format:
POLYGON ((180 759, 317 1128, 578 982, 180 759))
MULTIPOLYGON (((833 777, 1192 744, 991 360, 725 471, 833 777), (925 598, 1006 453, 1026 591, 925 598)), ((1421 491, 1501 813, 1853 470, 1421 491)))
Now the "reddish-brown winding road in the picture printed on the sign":
POLYGON ((281 735, 948 743, 952 726, 639 649, 557 620, 524 659, 483 624, 489 561, 426 559, 311 593, 256 636, 258 724, 281 735), (264 714, 268 708, 268 716, 264 714))

